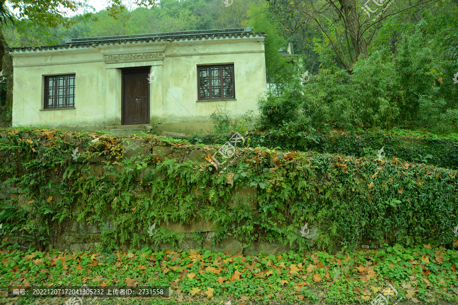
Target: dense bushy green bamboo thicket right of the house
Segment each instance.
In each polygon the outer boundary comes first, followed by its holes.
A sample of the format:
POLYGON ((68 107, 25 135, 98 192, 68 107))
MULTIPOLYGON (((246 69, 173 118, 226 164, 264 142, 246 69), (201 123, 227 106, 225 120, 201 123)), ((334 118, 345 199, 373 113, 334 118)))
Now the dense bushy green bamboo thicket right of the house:
POLYGON ((453 75, 454 66, 436 56, 433 42, 422 34, 425 27, 421 22, 404 35, 394 58, 381 46, 359 59, 352 75, 331 67, 303 85, 290 79, 282 96, 259 101, 260 129, 295 135, 309 127, 325 129, 326 123, 347 130, 456 131, 458 88, 445 78, 453 75))

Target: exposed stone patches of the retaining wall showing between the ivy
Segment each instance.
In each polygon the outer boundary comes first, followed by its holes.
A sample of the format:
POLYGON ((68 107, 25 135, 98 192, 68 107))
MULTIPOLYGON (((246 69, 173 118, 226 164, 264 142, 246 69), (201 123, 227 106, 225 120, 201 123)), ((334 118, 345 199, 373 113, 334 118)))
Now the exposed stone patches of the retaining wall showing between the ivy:
MULTIPOLYGON (((146 148, 146 147, 141 147, 142 140, 133 140, 130 141, 129 144, 125 144, 125 149, 126 149, 126 154, 124 155, 124 159, 129 159, 133 156, 137 156, 138 153, 151 153, 153 155, 156 155, 157 158, 161 161, 164 161, 166 159, 181 159, 183 162, 186 162, 188 160, 191 161, 198 161, 198 162, 204 162, 205 156, 208 154, 207 149, 196 149, 196 150, 191 150, 189 154, 182 155, 178 151, 174 151, 170 146, 155 146, 152 150, 146 148)), ((280 157, 280 155, 278 155, 280 157)), ((77 161, 78 163, 83 162, 84 160, 84 155, 77 161)), ((102 158, 96 157, 96 158, 91 158, 90 161, 94 163, 94 165, 91 166, 91 171, 89 173, 83 174, 83 178, 87 177, 88 175, 94 175, 94 176, 102 176, 105 173, 105 170, 102 165, 98 165, 97 163, 100 163, 102 158)), ((231 162, 233 159, 229 159, 228 163, 231 162)), ((234 162, 232 163, 233 165, 236 165, 239 163, 240 160, 235 159, 234 162)), ((121 169, 121 167, 119 167, 121 169)), ((146 170, 146 169, 145 169, 146 170)), ((140 177, 142 174, 140 174, 140 177)), ((140 192, 144 192, 141 188, 136 189, 135 194, 138 194, 140 192)), ((208 193, 209 189, 205 189, 204 192, 208 193)), ((202 195, 201 191, 198 191, 196 193, 197 195, 202 195), (199 193, 200 192, 200 193, 199 193)), ((228 206, 231 208, 235 208, 237 206, 238 199, 241 199, 242 204, 246 204, 250 207, 251 212, 253 214, 258 213, 257 209, 257 188, 255 187, 247 187, 245 189, 240 189, 238 187, 235 187, 232 191, 232 194, 234 195, 234 199, 232 202, 228 203, 228 206)), ((17 202, 18 207, 25 208, 27 205, 28 199, 26 198, 26 194, 24 191, 18 189, 18 188, 13 188, 13 189, 8 189, 5 188, 4 186, 0 187, 0 200, 4 201, 6 204, 9 202, 17 202)), ((53 198, 53 201, 58 202, 60 200, 59 196, 55 196, 53 198)), ((252 243, 251 245, 244 245, 243 242, 237 240, 231 234, 227 234, 225 236, 224 240, 220 243, 215 243, 215 235, 216 235, 216 228, 218 227, 218 223, 213 224, 210 221, 206 221, 202 219, 201 217, 197 216, 194 221, 192 221, 189 224, 183 224, 180 222, 169 222, 166 224, 164 221, 161 221, 160 224, 157 224, 156 229, 159 227, 164 228, 165 230, 173 231, 176 233, 180 233, 183 235, 183 241, 181 243, 178 243, 178 245, 171 245, 170 243, 164 243, 164 242, 159 242, 158 246, 150 246, 153 251, 157 250, 178 250, 178 249, 211 249, 212 251, 215 252, 223 252, 223 253, 243 253, 244 255, 253 255, 253 254, 259 254, 261 252, 265 252, 266 255, 269 254, 280 254, 280 253, 285 253, 289 252, 293 249, 296 248, 296 243, 294 242, 293 245, 282 245, 281 243, 277 242, 255 242, 252 243), (194 240, 191 238, 192 233, 194 232, 200 232, 202 239, 201 240, 194 240)), ((99 223, 87 223, 84 220, 81 222, 77 222, 75 219, 73 219, 70 223, 63 224, 63 227, 65 227, 64 231, 61 233, 56 233, 58 234, 58 237, 56 238, 55 242, 53 242, 52 247, 54 249, 57 249, 62 252, 70 251, 70 252, 78 252, 78 251, 94 251, 96 250, 96 247, 100 245, 100 241, 102 238, 102 232, 104 230, 113 230, 115 227, 112 222, 110 221, 104 221, 104 222, 99 222, 99 223)), ((145 228, 147 230, 148 228, 145 228)), ((298 234, 300 234, 300 228, 297 227, 298 234)), ((314 244, 314 240, 319 236, 318 233, 318 227, 313 227, 311 226, 309 228, 309 233, 304 237, 308 239, 311 243, 311 245, 314 244)), ((8 232, 3 238, 7 237, 9 238, 12 242, 18 242, 20 245, 23 247, 27 247, 31 245, 30 241, 27 241, 25 239, 16 239, 14 238, 15 235, 10 235, 8 232)), ((145 247, 147 245, 142 245, 141 248, 145 247)), ((378 245, 381 247, 381 245, 378 245)), ((375 248, 373 246, 369 246, 369 241, 363 241, 363 244, 361 245, 363 248, 375 248), (365 244, 364 244, 365 243, 365 244)), ((129 246, 123 245, 122 250, 127 251, 129 249, 129 246)), ((313 247, 313 249, 316 249, 316 247, 313 247)), ((334 247, 334 251, 339 250, 337 247, 334 247)))

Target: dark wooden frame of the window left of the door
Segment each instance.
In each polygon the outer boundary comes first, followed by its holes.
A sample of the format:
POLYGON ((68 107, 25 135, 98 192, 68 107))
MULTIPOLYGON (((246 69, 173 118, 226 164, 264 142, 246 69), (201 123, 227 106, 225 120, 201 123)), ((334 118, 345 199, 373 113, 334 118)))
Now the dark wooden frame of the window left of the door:
POLYGON ((58 110, 58 109, 72 109, 75 108, 75 97, 76 97, 76 74, 59 74, 59 75, 47 75, 44 77, 44 100, 43 100, 43 109, 44 110, 58 110), (58 98, 58 77, 65 77, 64 78, 64 106, 57 106, 57 98, 58 98), (68 94, 69 86, 69 79, 73 77, 74 84, 73 87, 73 95, 68 94), (54 85, 48 86, 49 80, 54 79, 54 85), (52 88, 54 94, 52 96, 48 96, 49 89, 52 88), (73 97, 73 104, 69 104, 69 98, 73 97), (49 106, 49 100, 53 99, 53 105, 49 106))

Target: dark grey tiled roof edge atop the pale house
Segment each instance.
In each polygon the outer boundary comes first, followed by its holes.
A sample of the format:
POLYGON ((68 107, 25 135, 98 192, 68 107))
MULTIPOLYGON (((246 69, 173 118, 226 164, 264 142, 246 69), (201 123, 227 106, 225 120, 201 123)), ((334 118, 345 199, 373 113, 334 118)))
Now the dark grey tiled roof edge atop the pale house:
POLYGON ((224 38, 239 38, 239 37, 265 37, 265 33, 251 33, 252 26, 247 28, 225 28, 211 29, 206 31, 187 31, 173 33, 158 33, 158 34, 142 34, 142 35, 125 35, 125 36, 107 36, 107 37, 91 37, 91 38, 68 38, 65 39, 65 44, 54 46, 40 47, 16 47, 7 49, 8 52, 24 52, 24 51, 42 51, 42 50, 58 50, 58 49, 74 49, 74 48, 89 48, 100 45, 116 45, 125 43, 144 43, 144 42, 159 42, 159 41, 189 41, 189 40, 204 40, 204 39, 224 39, 224 38))

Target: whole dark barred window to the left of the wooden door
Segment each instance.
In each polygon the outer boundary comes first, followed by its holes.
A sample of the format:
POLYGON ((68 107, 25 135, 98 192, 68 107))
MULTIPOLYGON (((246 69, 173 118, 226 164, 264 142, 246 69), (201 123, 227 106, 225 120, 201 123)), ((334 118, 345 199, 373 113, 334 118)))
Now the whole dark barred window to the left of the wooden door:
POLYGON ((45 77, 44 109, 75 107, 75 74, 45 77))

